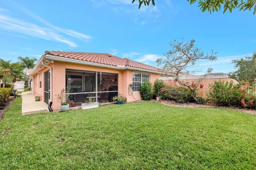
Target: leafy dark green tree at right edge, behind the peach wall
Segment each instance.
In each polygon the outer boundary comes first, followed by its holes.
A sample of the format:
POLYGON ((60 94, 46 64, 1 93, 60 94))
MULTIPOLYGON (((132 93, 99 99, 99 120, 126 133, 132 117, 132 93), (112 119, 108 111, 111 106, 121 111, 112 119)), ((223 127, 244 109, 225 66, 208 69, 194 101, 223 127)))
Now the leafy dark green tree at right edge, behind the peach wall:
POLYGON ((229 77, 237 81, 249 81, 252 85, 256 83, 256 52, 252 56, 243 57, 233 60, 235 68, 234 72, 229 73, 229 77))

